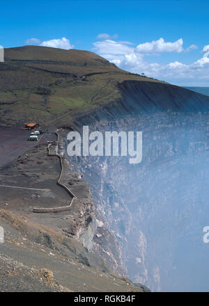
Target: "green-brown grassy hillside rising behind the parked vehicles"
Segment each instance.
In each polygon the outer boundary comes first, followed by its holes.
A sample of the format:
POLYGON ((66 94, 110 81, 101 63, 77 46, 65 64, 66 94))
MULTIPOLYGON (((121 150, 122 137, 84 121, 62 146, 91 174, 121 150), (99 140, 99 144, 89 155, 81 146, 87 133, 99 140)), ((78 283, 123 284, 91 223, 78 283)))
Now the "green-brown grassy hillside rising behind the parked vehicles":
POLYGON ((69 124, 78 114, 119 99, 117 83, 131 79, 157 81, 125 72, 89 51, 6 49, 0 63, 1 124, 69 124))

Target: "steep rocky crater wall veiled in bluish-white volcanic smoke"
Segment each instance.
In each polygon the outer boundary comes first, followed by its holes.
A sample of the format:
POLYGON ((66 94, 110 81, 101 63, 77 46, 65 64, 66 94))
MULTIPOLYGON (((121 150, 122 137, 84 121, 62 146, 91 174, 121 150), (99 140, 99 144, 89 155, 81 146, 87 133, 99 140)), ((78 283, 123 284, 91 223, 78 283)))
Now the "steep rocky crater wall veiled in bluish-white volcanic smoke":
POLYGON ((123 99, 73 127, 81 133, 83 125, 90 131, 142 131, 141 163, 130 164, 130 156, 65 152, 93 195, 96 227, 87 241, 153 291, 204 291, 209 98, 150 82, 125 81, 120 90, 123 99))

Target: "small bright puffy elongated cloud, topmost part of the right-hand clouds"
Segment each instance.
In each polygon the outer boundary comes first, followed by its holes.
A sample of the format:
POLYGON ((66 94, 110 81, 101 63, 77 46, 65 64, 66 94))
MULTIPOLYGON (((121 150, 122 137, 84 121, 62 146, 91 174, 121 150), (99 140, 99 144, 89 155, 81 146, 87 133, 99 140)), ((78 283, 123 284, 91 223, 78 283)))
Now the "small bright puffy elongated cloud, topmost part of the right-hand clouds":
POLYGON ((182 52, 183 39, 180 38, 176 42, 165 42, 163 38, 153 40, 152 42, 145 42, 137 46, 136 51, 143 54, 155 54, 162 52, 182 52))

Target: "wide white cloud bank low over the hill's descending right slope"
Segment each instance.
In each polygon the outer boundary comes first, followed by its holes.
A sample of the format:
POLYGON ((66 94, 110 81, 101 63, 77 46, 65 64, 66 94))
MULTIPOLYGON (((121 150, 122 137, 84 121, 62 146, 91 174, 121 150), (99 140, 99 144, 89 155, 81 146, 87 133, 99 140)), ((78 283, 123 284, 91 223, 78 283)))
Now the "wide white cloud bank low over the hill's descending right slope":
POLYGON ((164 42, 163 38, 160 38, 160 40, 139 44, 137 47, 134 47, 130 42, 116 42, 115 40, 102 40, 93 44, 95 53, 107 58, 108 61, 124 70, 139 74, 144 73, 148 77, 171 83, 179 84, 181 82, 182 85, 187 85, 189 82, 190 84, 206 86, 206 81, 209 79, 209 45, 203 47, 203 56, 190 64, 180 63, 179 61, 150 63, 146 60, 146 56, 150 54, 180 53, 194 49, 197 49, 196 45, 191 45, 184 50, 182 38, 176 40, 176 42, 164 42))

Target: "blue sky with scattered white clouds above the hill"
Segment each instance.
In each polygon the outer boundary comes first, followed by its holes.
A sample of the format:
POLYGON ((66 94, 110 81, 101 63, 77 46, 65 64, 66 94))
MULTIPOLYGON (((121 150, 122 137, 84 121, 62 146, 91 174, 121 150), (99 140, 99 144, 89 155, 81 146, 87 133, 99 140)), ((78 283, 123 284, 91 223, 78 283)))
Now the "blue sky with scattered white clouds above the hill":
POLYGON ((86 49, 131 72, 209 86, 208 0, 0 0, 0 5, 3 47, 86 49))

